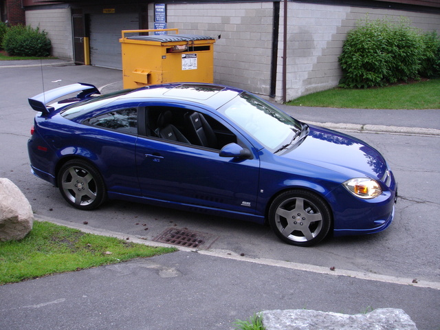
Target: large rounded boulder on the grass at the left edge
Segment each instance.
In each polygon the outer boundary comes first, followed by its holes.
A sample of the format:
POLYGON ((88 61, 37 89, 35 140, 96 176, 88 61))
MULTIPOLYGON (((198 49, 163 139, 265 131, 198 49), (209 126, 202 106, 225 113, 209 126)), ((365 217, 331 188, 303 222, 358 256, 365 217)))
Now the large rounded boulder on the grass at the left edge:
POLYGON ((34 224, 28 199, 10 179, 0 178, 0 241, 23 239, 34 224))

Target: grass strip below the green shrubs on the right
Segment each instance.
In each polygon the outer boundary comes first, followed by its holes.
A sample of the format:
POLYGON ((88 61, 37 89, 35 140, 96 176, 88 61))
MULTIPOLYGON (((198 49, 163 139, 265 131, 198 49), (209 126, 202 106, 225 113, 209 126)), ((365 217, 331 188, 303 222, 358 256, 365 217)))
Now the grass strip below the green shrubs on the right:
POLYGON ((440 79, 369 89, 333 88, 289 105, 352 109, 440 109, 440 79))

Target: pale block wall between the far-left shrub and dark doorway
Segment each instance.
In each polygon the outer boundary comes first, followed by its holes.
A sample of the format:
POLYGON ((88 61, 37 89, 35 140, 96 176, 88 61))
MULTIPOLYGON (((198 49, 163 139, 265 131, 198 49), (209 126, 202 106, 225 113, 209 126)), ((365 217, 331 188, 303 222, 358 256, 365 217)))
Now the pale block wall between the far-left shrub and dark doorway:
POLYGON ((45 30, 52 56, 73 60, 72 16, 69 7, 26 10, 26 25, 45 30))

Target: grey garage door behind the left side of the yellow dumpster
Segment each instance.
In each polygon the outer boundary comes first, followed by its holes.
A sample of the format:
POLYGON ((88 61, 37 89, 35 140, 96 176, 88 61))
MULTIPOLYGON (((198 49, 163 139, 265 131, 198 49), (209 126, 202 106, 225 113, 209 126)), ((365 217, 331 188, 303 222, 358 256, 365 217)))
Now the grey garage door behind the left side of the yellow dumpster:
POLYGON ((139 29, 139 14, 91 14, 90 62, 97 67, 122 69, 122 30, 139 29))

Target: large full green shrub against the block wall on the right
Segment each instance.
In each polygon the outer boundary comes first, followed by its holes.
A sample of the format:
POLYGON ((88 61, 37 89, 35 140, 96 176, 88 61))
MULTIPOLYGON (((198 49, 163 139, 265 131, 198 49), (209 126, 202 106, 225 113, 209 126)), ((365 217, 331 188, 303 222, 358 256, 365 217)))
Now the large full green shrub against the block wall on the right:
POLYGON ((366 17, 349 31, 342 47, 340 86, 380 87, 419 78, 424 49, 421 35, 406 19, 391 23, 366 17))

